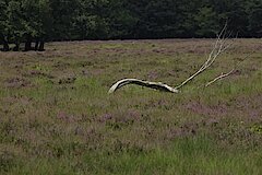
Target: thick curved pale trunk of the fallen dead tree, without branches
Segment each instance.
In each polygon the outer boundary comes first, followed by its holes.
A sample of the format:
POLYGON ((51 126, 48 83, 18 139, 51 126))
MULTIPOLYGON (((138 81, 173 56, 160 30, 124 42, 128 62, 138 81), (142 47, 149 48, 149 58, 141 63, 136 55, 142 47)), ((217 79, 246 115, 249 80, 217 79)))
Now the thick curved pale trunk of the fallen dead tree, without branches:
POLYGON ((150 89, 155 89, 159 91, 166 91, 170 93, 178 93, 179 91, 177 89, 174 89, 167 84, 164 84, 162 82, 150 82, 150 81, 144 81, 144 80, 139 80, 139 79, 123 79, 118 82, 116 82, 110 90, 108 91, 108 94, 111 94, 116 92, 118 89, 122 88, 123 85, 127 84, 136 84, 141 86, 146 86, 150 89))

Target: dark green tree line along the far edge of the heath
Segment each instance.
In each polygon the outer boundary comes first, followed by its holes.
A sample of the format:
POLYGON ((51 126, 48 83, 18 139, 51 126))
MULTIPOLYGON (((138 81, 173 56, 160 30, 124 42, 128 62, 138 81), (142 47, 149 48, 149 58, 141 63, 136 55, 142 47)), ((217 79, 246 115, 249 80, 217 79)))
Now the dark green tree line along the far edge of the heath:
POLYGON ((0 0, 0 14, 4 51, 44 50, 49 40, 215 37, 225 22, 240 37, 262 37, 261 0, 0 0))

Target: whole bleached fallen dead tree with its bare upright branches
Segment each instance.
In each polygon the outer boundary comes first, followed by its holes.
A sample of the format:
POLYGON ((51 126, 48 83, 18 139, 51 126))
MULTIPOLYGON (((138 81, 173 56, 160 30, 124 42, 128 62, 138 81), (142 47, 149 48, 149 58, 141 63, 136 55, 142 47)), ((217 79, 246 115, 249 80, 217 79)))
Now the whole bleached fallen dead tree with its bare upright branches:
MULTIPOLYGON (((109 89, 108 93, 109 94, 115 93, 117 90, 119 90, 120 88, 128 85, 128 84, 135 84, 135 85, 155 89, 155 90, 159 90, 159 91, 178 93, 182 86, 184 86, 187 83, 192 81, 195 77, 198 77, 200 73, 204 72, 207 68, 210 68, 215 62, 217 57, 219 55, 222 55, 223 52, 225 52, 233 45, 234 39, 230 39, 230 34, 227 35, 226 28, 227 28, 227 25, 225 25, 223 27, 223 30, 221 31, 219 35, 216 38, 216 42, 213 45, 213 49, 210 52, 205 62, 200 67, 200 69, 195 73, 193 73, 188 79, 186 79, 181 84, 172 88, 172 86, 164 84, 162 82, 151 82, 151 81, 145 81, 145 80, 140 80, 140 79, 123 79, 123 80, 116 82, 109 89)), ((235 69, 233 69, 230 72, 228 72, 226 74, 222 73, 219 77, 217 77, 214 80, 206 83, 205 86, 211 85, 212 83, 216 82, 219 79, 230 75, 234 71, 235 71, 235 69)))

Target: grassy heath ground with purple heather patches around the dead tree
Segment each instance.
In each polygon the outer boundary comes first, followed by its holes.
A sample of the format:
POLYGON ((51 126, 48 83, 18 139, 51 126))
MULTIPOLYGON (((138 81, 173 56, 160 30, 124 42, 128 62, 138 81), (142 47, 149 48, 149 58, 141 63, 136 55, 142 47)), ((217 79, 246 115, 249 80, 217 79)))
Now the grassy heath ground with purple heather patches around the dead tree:
POLYGON ((0 52, 0 174, 262 174, 262 49, 238 39, 179 94, 210 39, 51 43, 0 52), (203 84, 241 62, 231 77, 203 84))

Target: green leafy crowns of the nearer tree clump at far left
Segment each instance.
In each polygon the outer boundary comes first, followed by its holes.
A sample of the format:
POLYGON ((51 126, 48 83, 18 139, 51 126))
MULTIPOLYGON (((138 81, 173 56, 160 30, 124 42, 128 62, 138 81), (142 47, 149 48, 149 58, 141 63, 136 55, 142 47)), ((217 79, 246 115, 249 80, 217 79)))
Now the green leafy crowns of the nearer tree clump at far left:
POLYGON ((31 47, 32 39, 50 36, 52 18, 49 0, 10 0, 1 2, 1 5, 5 20, 1 20, 0 34, 14 43, 15 47, 22 42, 28 43, 31 47))

